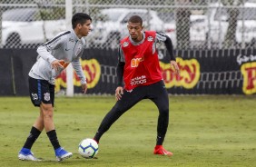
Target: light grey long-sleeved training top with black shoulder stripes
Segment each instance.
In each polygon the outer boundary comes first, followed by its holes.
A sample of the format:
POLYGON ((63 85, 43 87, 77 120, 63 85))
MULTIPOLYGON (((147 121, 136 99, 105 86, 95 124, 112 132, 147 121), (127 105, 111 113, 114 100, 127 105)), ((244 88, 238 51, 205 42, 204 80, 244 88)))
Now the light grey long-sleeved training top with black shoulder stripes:
POLYGON ((64 70, 55 71, 52 68, 51 63, 57 59, 64 60, 66 64, 72 63, 81 83, 86 83, 86 78, 80 64, 80 57, 84 52, 84 48, 84 38, 79 39, 74 30, 57 34, 54 39, 37 48, 37 61, 28 75, 34 79, 46 80, 54 84, 55 77, 64 70))

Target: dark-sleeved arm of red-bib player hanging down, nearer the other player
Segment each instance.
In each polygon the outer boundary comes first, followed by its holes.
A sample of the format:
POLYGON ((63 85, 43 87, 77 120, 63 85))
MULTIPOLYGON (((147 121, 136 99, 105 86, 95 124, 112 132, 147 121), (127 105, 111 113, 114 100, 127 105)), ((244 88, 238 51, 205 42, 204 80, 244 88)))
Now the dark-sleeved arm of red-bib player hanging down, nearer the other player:
POLYGON ((121 46, 119 47, 118 64, 116 66, 117 74, 117 88, 115 89, 115 99, 120 100, 123 94, 123 71, 124 71, 124 58, 121 46))

